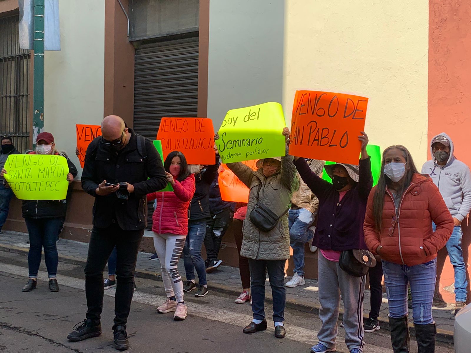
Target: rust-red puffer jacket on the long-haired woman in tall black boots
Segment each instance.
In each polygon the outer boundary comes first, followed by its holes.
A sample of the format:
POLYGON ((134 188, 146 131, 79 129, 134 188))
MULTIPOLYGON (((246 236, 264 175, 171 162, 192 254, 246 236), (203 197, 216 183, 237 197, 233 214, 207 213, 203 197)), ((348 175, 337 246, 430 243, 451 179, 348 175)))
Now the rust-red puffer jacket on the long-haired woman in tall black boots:
POLYGON ((400 201, 398 215, 392 194, 386 188, 379 233, 374 228, 373 217, 376 188, 368 198, 363 227, 368 249, 383 260, 408 266, 423 264, 437 257, 437 252, 445 246, 453 232, 453 218, 432 179, 421 174, 413 176, 400 201), (398 221, 394 222, 393 217, 396 216, 398 221), (432 221, 437 225, 435 232, 432 221), (389 233, 394 223, 391 236, 389 233))

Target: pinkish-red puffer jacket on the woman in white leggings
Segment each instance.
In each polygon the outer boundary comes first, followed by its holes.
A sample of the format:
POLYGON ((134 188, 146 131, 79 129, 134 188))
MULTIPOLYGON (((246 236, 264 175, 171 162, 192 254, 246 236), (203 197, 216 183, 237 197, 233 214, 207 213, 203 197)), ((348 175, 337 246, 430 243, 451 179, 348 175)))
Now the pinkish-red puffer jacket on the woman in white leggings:
POLYGON ((147 194, 147 201, 157 199, 152 215, 152 231, 159 234, 187 235, 188 207, 195 193, 195 175, 181 182, 175 180, 172 191, 147 194))

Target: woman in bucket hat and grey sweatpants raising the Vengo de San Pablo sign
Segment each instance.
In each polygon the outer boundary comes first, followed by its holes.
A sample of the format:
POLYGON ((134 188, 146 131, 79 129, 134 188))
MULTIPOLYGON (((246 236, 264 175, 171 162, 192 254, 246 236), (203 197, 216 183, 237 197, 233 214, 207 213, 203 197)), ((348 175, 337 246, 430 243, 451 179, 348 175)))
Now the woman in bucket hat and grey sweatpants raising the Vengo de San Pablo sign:
POLYGON ((367 248, 363 238, 366 203, 373 187, 371 161, 366 152, 368 136, 362 132, 358 139, 361 141, 359 165, 337 163, 325 166, 333 184, 313 173, 304 158, 294 157, 294 165, 302 180, 319 199, 313 245, 320 250, 317 266, 322 327, 317 334, 319 343, 311 348, 313 353, 335 351, 340 294, 344 305, 345 343, 350 353, 363 352, 363 292, 366 276, 352 275, 342 266, 344 253, 352 253, 349 250, 354 249, 357 251, 354 250, 353 254, 361 253, 363 258, 374 262, 372 254, 364 250, 367 248))

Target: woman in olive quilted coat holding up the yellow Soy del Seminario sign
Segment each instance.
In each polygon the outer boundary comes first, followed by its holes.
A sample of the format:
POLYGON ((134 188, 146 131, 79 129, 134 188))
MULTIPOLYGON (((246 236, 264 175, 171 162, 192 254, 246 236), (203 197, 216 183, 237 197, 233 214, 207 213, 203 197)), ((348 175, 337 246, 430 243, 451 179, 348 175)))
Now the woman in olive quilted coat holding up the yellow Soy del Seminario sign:
MULTIPOLYGON (((287 128, 283 135, 288 138, 287 128)), ((227 167, 250 188, 247 217, 244 221, 243 241, 240 255, 249 259, 252 291, 253 321, 244 328, 244 333, 255 333, 267 329, 265 319, 265 281, 266 271, 273 296, 273 321, 275 336, 283 338, 286 334, 284 306, 284 264, 290 257, 290 234, 287 211, 291 196, 297 186, 296 168, 293 157, 288 154, 288 146, 283 157, 265 158, 257 161, 257 170, 242 162, 228 163, 227 167), (258 194, 258 200, 257 200, 258 194), (257 201, 276 216, 280 217, 273 229, 264 232, 251 221, 250 214, 257 201)))

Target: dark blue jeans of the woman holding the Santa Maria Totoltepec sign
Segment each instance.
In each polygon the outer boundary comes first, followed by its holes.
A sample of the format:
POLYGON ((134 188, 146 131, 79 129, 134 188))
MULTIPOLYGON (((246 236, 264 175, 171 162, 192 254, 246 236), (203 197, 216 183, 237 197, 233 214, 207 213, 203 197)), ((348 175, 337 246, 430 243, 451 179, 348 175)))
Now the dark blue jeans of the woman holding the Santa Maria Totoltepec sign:
POLYGON ((44 248, 44 260, 49 278, 56 278, 59 262, 56 239, 62 219, 26 217, 24 221, 30 239, 30 250, 28 252, 29 277, 38 277, 39 265, 41 265, 41 250, 44 248))

